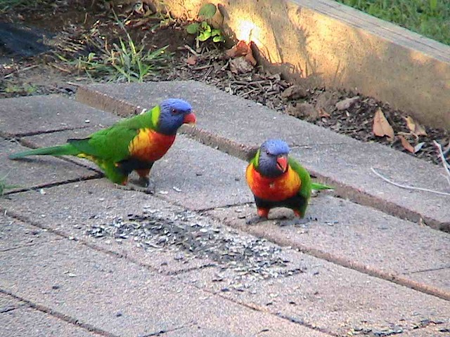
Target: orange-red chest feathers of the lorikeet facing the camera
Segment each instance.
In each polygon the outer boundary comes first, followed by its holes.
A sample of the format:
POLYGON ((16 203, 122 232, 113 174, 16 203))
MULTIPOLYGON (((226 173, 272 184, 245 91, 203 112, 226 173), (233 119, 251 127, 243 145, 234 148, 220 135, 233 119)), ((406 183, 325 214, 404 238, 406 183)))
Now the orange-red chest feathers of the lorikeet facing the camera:
POLYGON ((295 196, 300 190, 302 181, 298 174, 288 166, 288 171, 276 178, 261 176, 253 164, 245 172, 248 186, 256 197, 269 201, 283 201, 295 196))

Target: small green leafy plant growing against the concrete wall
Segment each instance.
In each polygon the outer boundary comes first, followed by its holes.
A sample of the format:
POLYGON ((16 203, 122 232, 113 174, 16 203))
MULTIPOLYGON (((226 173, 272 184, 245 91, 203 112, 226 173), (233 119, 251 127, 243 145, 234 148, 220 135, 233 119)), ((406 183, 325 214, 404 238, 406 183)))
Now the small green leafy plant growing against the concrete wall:
POLYGON ((186 32, 188 34, 197 35, 197 41, 204 42, 207 39, 212 38, 214 42, 223 42, 224 36, 220 29, 212 28, 207 22, 210 20, 217 12, 217 7, 214 4, 205 4, 198 11, 198 20, 200 22, 193 22, 191 25, 186 27, 186 32))

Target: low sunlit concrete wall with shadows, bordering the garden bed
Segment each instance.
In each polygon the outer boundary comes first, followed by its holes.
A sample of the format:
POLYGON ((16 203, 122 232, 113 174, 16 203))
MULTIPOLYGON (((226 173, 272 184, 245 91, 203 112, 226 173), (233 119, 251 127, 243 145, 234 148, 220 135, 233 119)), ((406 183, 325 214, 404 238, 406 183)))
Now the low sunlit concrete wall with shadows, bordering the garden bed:
POLYGON ((261 62, 288 78, 349 88, 450 129, 449 46, 329 0, 155 1, 188 18, 218 4, 224 30, 254 41, 261 62))

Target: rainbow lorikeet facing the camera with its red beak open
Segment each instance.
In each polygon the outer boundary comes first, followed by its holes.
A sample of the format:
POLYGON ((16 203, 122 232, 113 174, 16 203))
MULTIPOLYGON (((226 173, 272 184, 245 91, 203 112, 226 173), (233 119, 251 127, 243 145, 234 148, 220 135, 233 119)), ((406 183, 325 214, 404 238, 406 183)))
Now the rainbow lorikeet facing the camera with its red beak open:
POLYGON ((303 218, 311 190, 333 188, 312 183, 308 171, 289 157, 289 152, 289 146, 283 140, 266 140, 250 161, 245 178, 255 197, 259 218, 253 218, 249 223, 266 219, 275 207, 287 207, 295 216, 303 218))

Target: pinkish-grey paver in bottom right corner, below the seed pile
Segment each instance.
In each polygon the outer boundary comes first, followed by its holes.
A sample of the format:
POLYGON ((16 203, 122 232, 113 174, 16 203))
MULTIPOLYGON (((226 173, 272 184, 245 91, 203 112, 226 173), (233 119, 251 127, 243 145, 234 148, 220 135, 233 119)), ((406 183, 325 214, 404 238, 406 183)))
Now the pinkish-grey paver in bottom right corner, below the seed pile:
MULTIPOLYGON (((449 324, 450 303, 354 270, 298 253, 304 272, 262 281, 240 280, 242 286, 217 282, 219 270, 192 273, 191 282, 221 291, 250 307, 316 326, 335 336, 361 329, 380 332, 400 327, 408 331, 424 320, 449 324)), ((186 276, 184 276, 186 277, 186 276)), ((369 335, 371 336, 371 335, 369 335)), ((383 336, 374 333, 373 336, 383 336)))

